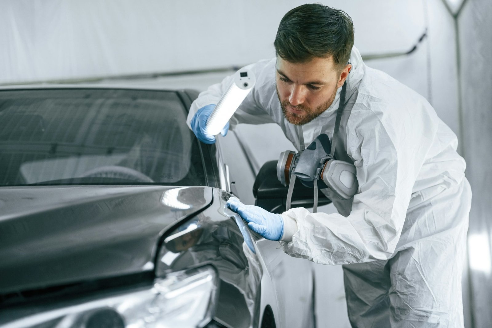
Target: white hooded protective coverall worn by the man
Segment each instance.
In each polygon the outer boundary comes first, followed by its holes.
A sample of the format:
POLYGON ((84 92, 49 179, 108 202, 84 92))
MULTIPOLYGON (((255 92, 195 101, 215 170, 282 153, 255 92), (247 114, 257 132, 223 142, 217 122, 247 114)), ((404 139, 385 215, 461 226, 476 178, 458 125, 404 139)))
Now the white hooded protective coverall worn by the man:
MULTIPOLYGON (((284 213, 285 253, 316 263, 344 264, 353 327, 463 327, 461 272, 471 190, 456 135, 429 102, 362 62, 354 47, 335 157, 355 164, 358 193, 341 200, 340 214, 284 213), (347 114, 347 115, 345 115, 347 114)), ((284 119, 276 93, 276 59, 246 66, 253 91, 230 120, 277 123, 299 150, 294 125, 284 119)), ((216 104, 231 77, 193 102, 216 104)), ((321 133, 332 139, 339 103, 303 126, 306 145, 321 133)))

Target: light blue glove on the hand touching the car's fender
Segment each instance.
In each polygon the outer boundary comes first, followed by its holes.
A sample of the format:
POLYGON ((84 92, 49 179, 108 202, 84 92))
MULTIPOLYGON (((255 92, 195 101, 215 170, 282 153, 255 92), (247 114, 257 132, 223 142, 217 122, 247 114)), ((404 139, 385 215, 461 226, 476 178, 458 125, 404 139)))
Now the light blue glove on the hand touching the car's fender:
POLYGON ((283 234, 283 219, 259 206, 245 205, 236 197, 227 200, 227 207, 248 222, 249 229, 270 240, 280 240, 283 234))

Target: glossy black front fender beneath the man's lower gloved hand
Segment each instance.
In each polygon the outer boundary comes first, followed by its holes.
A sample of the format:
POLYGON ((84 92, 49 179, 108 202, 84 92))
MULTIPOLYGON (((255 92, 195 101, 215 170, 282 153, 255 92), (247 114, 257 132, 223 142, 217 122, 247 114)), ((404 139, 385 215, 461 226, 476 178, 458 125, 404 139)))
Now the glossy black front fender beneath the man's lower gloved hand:
POLYGON ((164 234, 156 275, 212 264, 219 274, 215 320, 227 327, 257 327, 263 269, 255 236, 225 207, 231 195, 214 189, 214 202, 176 230, 164 234))

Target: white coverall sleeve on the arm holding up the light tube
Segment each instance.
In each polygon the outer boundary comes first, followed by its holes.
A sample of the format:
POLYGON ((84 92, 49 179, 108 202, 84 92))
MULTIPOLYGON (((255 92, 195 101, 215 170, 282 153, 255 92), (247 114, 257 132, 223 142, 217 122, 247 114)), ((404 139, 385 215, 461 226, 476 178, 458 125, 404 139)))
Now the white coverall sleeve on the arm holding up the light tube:
MULTIPOLYGON (((268 103, 262 103, 263 93, 267 93, 265 86, 272 83, 272 73, 275 74, 275 61, 263 60, 255 64, 245 66, 256 76, 256 83, 251 92, 246 96, 239 108, 229 120, 229 129, 233 130, 239 123, 265 124, 274 123, 266 107, 268 103)), ((274 77, 275 78, 275 77, 274 77)), ((275 81, 275 80, 273 80, 275 81)), ((233 83, 233 75, 226 76, 222 82, 210 86, 206 91, 201 92, 198 98, 193 101, 189 109, 186 124, 190 127, 190 122, 198 109, 209 104, 217 104, 222 95, 233 83)), ((190 127, 191 129, 191 127, 190 127)))

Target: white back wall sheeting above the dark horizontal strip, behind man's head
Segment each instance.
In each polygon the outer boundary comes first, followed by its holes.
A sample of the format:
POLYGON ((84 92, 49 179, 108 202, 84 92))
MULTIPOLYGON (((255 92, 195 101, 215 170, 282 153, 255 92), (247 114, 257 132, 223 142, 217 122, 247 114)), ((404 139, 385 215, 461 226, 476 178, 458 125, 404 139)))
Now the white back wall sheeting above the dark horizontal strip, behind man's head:
MULTIPOLYGON (((0 0, 0 84, 241 66, 273 57, 281 17, 305 2, 0 0)), ((363 53, 423 32, 421 1, 325 3, 350 13, 363 53)))

